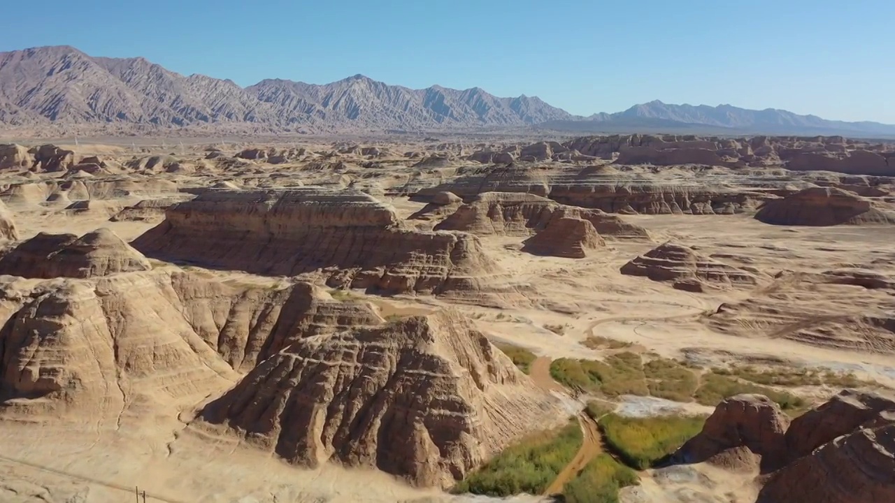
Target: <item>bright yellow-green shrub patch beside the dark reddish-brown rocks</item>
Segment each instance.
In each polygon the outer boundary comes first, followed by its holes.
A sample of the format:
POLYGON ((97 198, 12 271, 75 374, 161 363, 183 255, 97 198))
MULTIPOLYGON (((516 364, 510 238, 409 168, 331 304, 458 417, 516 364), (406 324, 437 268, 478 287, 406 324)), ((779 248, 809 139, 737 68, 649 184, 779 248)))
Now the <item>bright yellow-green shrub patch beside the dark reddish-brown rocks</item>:
POLYGON ((704 422, 703 416, 629 418, 610 413, 599 424, 607 446, 626 465, 644 470, 692 439, 704 422))

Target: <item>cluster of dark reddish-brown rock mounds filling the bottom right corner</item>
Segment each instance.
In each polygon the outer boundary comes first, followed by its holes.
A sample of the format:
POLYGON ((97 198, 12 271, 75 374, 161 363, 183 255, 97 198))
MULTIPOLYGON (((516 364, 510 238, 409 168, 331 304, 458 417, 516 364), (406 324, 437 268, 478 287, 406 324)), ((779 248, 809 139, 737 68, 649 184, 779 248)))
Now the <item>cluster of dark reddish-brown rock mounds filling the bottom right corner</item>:
POLYGON ((893 501, 895 401, 845 390, 790 422, 766 396, 731 396, 674 460, 760 466, 758 503, 893 501))

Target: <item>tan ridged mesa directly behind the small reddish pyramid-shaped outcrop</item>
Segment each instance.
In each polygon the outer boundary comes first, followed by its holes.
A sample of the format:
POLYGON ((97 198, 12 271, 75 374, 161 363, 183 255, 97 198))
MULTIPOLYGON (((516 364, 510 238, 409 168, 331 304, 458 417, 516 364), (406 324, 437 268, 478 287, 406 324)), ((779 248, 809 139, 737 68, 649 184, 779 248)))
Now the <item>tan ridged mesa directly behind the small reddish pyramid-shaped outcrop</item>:
POLYGON ((543 229, 556 217, 587 220, 597 234, 610 239, 649 238, 646 229, 629 224, 621 217, 599 209, 566 206, 524 192, 482 192, 439 222, 435 229, 526 236, 543 229))

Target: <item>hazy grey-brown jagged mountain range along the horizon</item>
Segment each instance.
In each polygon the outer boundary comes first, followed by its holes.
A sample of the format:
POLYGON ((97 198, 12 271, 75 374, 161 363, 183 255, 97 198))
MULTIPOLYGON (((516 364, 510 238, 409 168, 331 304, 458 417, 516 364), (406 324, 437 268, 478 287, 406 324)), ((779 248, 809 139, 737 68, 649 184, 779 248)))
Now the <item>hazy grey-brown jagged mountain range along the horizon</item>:
POLYGON ((74 47, 0 53, 0 124, 107 132, 436 132, 537 128, 559 132, 715 132, 895 135, 895 125, 827 121, 785 110, 652 101, 589 117, 540 98, 499 98, 473 88, 411 90, 354 75, 328 84, 268 79, 247 88, 183 76, 144 58, 74 47))

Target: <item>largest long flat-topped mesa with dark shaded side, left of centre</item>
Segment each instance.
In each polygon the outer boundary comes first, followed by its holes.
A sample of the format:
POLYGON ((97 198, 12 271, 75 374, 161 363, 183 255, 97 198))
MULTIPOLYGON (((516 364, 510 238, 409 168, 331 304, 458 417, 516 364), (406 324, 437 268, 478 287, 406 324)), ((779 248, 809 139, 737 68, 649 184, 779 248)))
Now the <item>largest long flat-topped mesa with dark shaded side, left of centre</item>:
POLYGON ((472 234, 405 228, 395 211, 353 190, 208 191, 166 211, 133 241, 152 257, 294 276, 388 293, 470 290, 499 272, 472 234))

